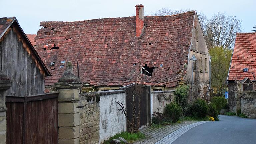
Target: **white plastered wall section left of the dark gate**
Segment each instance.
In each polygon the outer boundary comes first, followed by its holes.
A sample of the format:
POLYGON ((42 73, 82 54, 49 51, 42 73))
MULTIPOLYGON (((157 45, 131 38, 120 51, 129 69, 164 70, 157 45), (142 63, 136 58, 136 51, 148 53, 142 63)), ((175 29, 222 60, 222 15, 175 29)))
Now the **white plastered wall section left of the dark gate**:
POLYGON ((114 90, 101 93, 100 96, 100 126, 99 143, 114 136, 114 134, 126 131, 126 117, 119 111, 121 107, 115 102, 119 101, 126 105, 124 90, 114 90))

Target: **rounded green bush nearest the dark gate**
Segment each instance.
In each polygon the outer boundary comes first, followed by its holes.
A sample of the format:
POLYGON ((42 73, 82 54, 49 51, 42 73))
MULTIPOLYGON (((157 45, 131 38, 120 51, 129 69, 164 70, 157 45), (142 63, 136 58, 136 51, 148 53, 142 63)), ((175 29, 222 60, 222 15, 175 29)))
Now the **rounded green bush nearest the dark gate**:
POLYGON ((177 122, 179 120, 182 109, 177 103, 171 102, 170 104, 166 104, 164 108, 166 114, 170 116, 172 122, 177 122))

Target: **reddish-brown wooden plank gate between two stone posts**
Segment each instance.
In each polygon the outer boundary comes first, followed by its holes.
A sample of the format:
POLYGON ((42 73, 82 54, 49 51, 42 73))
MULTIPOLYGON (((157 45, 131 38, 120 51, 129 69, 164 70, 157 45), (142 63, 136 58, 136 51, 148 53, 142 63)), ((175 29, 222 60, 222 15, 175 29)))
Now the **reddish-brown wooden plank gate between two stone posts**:
POLYGON ((6 144, 58 144, 58 93, 6 97, 6 144))

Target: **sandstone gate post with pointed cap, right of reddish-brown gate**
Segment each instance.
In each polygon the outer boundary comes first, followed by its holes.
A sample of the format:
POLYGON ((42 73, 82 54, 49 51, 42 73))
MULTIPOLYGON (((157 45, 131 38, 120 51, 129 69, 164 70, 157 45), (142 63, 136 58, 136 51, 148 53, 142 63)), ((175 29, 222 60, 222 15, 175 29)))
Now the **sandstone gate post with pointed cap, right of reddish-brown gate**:
POLYGON ((71 62, 67 63, 63 76, 55 83, 58 96, 58 143, 79 144, 79 88, 80 79, 74 75, 71 62))

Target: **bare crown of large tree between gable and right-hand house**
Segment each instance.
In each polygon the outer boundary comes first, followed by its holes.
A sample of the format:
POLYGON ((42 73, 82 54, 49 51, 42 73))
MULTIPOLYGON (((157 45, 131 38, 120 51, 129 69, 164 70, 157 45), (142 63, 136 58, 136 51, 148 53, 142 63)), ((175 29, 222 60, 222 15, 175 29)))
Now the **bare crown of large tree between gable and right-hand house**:
POLYGON ((230 48, 241 31, 242 21, 235 16, 217 12, 208 19, 205 25, 204 36, 208 49, 213 47, 230 48))

